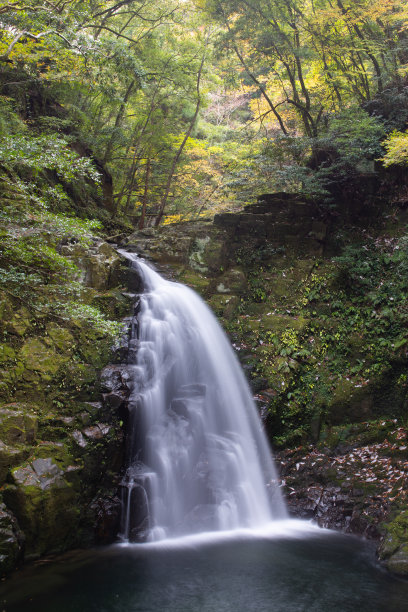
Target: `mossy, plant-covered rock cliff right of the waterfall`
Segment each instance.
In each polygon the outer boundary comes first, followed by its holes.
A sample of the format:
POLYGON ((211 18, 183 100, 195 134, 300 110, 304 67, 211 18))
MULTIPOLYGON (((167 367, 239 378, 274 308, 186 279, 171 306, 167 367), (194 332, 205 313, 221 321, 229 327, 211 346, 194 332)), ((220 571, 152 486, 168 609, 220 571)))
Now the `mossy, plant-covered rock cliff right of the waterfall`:
POLYGON ((323 216, 287 194, 128 244, 191 285, 237 350, 293 514, 382 540, 407 571, 405 212, 323 216), (354 222, 355 223, 355 222, 354 222))

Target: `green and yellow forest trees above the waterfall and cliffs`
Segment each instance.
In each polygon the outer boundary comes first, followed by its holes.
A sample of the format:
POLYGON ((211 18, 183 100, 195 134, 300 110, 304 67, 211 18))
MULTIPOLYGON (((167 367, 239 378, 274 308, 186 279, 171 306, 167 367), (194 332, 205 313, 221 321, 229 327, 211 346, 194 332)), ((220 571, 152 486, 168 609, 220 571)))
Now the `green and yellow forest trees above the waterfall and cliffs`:
POLYGON ((0 2, 0 163, 88 180, 104 168, 104 221, 129 226, 276 190, 332 205, 334 184, 384 154, 406 163, 407 13, 399 0, 0 2))

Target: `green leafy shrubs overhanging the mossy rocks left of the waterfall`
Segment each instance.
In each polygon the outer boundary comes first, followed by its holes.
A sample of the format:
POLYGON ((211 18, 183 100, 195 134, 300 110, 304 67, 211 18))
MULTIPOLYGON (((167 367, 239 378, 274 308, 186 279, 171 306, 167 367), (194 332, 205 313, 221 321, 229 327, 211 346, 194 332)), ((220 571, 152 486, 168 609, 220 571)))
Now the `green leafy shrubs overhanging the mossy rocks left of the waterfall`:
MULTIPOLYGON (((76 172, 75 163, 68 168, 68 175, 76 172)), ((79 270, 59 252, 64 243, 90 245, 100 224, 49 211, 47 198, 36 195, 35 183, 3 175, 0 186, 0 289, 34 315, 41 313, 68 323, 88 322, 102 336, 114 338, 118 325, 84 303, 79 270)), ((60 185, 50 189, 51 195, 56 191, 61 197, 60 185)))

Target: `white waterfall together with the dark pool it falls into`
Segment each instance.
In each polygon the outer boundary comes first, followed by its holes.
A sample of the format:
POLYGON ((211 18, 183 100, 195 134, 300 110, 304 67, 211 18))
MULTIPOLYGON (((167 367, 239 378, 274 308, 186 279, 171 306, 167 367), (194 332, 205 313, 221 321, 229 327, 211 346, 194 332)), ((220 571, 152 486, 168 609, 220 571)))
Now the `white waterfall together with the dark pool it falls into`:
POLYGON ((137 265, 122 543, 16 572, 0 610, 406 612, 408 583, 372 545, 287 519, 223 332, 192 291, 137 265))

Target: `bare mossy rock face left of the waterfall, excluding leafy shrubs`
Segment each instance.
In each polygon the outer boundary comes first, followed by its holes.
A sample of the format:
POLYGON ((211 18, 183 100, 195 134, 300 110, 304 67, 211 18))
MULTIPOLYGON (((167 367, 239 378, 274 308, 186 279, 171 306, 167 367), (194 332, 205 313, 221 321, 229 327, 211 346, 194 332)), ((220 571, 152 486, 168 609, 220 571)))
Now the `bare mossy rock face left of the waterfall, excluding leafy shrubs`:
MULTIPOLYGON (((127 266, 101 241, 62 247, 88 303, 112 318, 131 301, 127 266)), ((112 347, 85 321, 47 320, 0 295, 0 572, 24 559, 112 541, 122 465, 121 403, 100 386, 112 347), (17 307, 16 307, 17 306, 17 307)))

